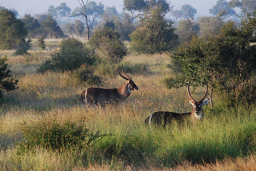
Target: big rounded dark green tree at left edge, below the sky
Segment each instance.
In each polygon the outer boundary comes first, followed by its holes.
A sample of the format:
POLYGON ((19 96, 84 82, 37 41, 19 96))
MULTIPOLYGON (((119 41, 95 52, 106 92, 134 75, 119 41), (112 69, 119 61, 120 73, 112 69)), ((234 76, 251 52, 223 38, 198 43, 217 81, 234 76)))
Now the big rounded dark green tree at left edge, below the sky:
POLYGON ((27 30, 24 23, 16 19, 14 12, 0 10, 0 49, 18 49, 26 44, 27 30))

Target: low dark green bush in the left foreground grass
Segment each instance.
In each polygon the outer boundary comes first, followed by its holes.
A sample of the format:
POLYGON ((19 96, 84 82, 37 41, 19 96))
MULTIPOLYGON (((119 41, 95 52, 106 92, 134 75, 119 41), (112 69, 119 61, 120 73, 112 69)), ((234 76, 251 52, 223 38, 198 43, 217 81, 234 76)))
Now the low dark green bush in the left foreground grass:
POLYGON ((65 148, 87 148, 106 134, 93 133, 86 128, 85 121, 78 123, 71 120, 59 121, 57 116, 43 116, 34 121, 24 121, 21 130, 24 139, 17 144, 19 152, 34 150, 36 146, 60 150, 65 148))

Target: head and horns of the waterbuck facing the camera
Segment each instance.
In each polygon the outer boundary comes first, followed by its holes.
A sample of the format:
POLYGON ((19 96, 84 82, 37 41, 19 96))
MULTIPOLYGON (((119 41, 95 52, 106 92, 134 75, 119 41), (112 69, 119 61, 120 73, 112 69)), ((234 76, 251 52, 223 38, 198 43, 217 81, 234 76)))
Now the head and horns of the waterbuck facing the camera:
MULTIPOLYGON (((205 80, 205 78, 204 78, 205 80)), ((190 79, 191 81, 191 79, 190 79)), ((206 83, 206 90, 205 90, 205 94, 204 96, 198 101, 196 102, 196 100, 194 100, 190 94, 190 91, 189 91, 189 84, 190 84, 190 81, 189 83, 187 84, 187 94, 189 95, 189 102, 192 104, 193 106, 193 109, 192 109, 192 112, 191 112, 191 117, 193 118, 193 121, 194 121, 194 117, 197 119, 197 120, 200 120, 202 118, 204 118, 204 109, 202 108, 203 105, 206 105, 209 103, 209 99, 205 99, 206 95, 207 95, 207 92, 208 92, 208 84, 205 80, 205 83, 206 83), (205 100, 204 100, 205 99, 205 100), (203 101, 204 100, 204 101, 203 101)))

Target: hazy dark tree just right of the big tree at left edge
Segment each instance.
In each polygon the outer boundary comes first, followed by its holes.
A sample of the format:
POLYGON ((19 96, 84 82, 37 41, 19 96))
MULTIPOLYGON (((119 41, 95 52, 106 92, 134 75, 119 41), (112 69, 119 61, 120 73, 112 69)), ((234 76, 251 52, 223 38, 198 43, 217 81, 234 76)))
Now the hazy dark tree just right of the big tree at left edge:
POLYGON ((35 36, 40 32, 40 23, 32 17, 30 14, 25 14, 21 20, 28 31, 28 38, 35 38, 35 36))

